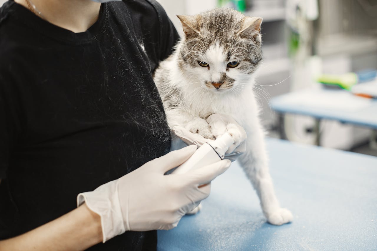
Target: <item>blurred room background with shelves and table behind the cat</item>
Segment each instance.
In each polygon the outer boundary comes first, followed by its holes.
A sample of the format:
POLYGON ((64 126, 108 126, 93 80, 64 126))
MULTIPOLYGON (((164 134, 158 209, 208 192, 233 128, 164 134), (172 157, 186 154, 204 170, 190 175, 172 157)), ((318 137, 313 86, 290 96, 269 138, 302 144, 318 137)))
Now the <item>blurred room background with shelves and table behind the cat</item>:
POLYGON ((181 34, 177 14, 262 17, 255 92, 268 136, 377 156, 377 0, 158 2, 181 34))

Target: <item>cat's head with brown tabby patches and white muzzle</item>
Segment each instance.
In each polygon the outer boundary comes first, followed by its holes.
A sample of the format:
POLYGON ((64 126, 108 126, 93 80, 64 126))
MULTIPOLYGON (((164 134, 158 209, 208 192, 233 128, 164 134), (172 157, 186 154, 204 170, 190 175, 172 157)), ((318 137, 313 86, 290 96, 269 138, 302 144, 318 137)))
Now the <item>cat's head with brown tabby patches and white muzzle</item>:
POLYGON ((206 89, 243 89, 262 60, 260 17, 230 8, 195 16, 178 15, 185 37, 178 46, 179 68, 206 89))

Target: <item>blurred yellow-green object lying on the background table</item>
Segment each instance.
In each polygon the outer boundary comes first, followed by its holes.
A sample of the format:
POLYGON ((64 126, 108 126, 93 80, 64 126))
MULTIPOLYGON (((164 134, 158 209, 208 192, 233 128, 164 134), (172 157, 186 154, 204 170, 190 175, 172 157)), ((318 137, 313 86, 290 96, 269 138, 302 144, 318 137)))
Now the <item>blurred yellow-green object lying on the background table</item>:
POLYGON ((339 86, 345 90, 351 90, 354 84, 357 84, 357 75, 356 73, 349 72, 345 74, 323 74, 317 81, 322 84, 330 86, 339 86))

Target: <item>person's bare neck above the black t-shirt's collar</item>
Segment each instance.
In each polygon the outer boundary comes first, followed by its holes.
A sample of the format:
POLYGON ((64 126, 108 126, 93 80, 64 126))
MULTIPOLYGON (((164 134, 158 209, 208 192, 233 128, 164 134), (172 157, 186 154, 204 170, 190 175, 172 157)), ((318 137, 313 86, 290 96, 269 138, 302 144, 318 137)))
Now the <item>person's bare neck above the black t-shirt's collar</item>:
MULTIPOLYGON (((26 0, 14 1, 28 8, 26 0)), ((75 33, 89 29, 98 20, 101 7, 91 0, 31 0, 31 3, 46 21, 75 33)))

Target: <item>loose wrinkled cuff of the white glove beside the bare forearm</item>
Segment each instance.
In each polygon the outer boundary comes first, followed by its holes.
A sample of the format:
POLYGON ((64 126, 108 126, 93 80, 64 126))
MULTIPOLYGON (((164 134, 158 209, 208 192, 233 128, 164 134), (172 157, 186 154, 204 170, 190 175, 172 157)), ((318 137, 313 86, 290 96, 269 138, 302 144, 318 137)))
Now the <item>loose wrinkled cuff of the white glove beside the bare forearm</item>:
POLYGON ((84 202, 101 217, 103 243, 126 231, 118 199, 118 180, 103 184, 94 191, 78 194, 77 207, 84 202))

